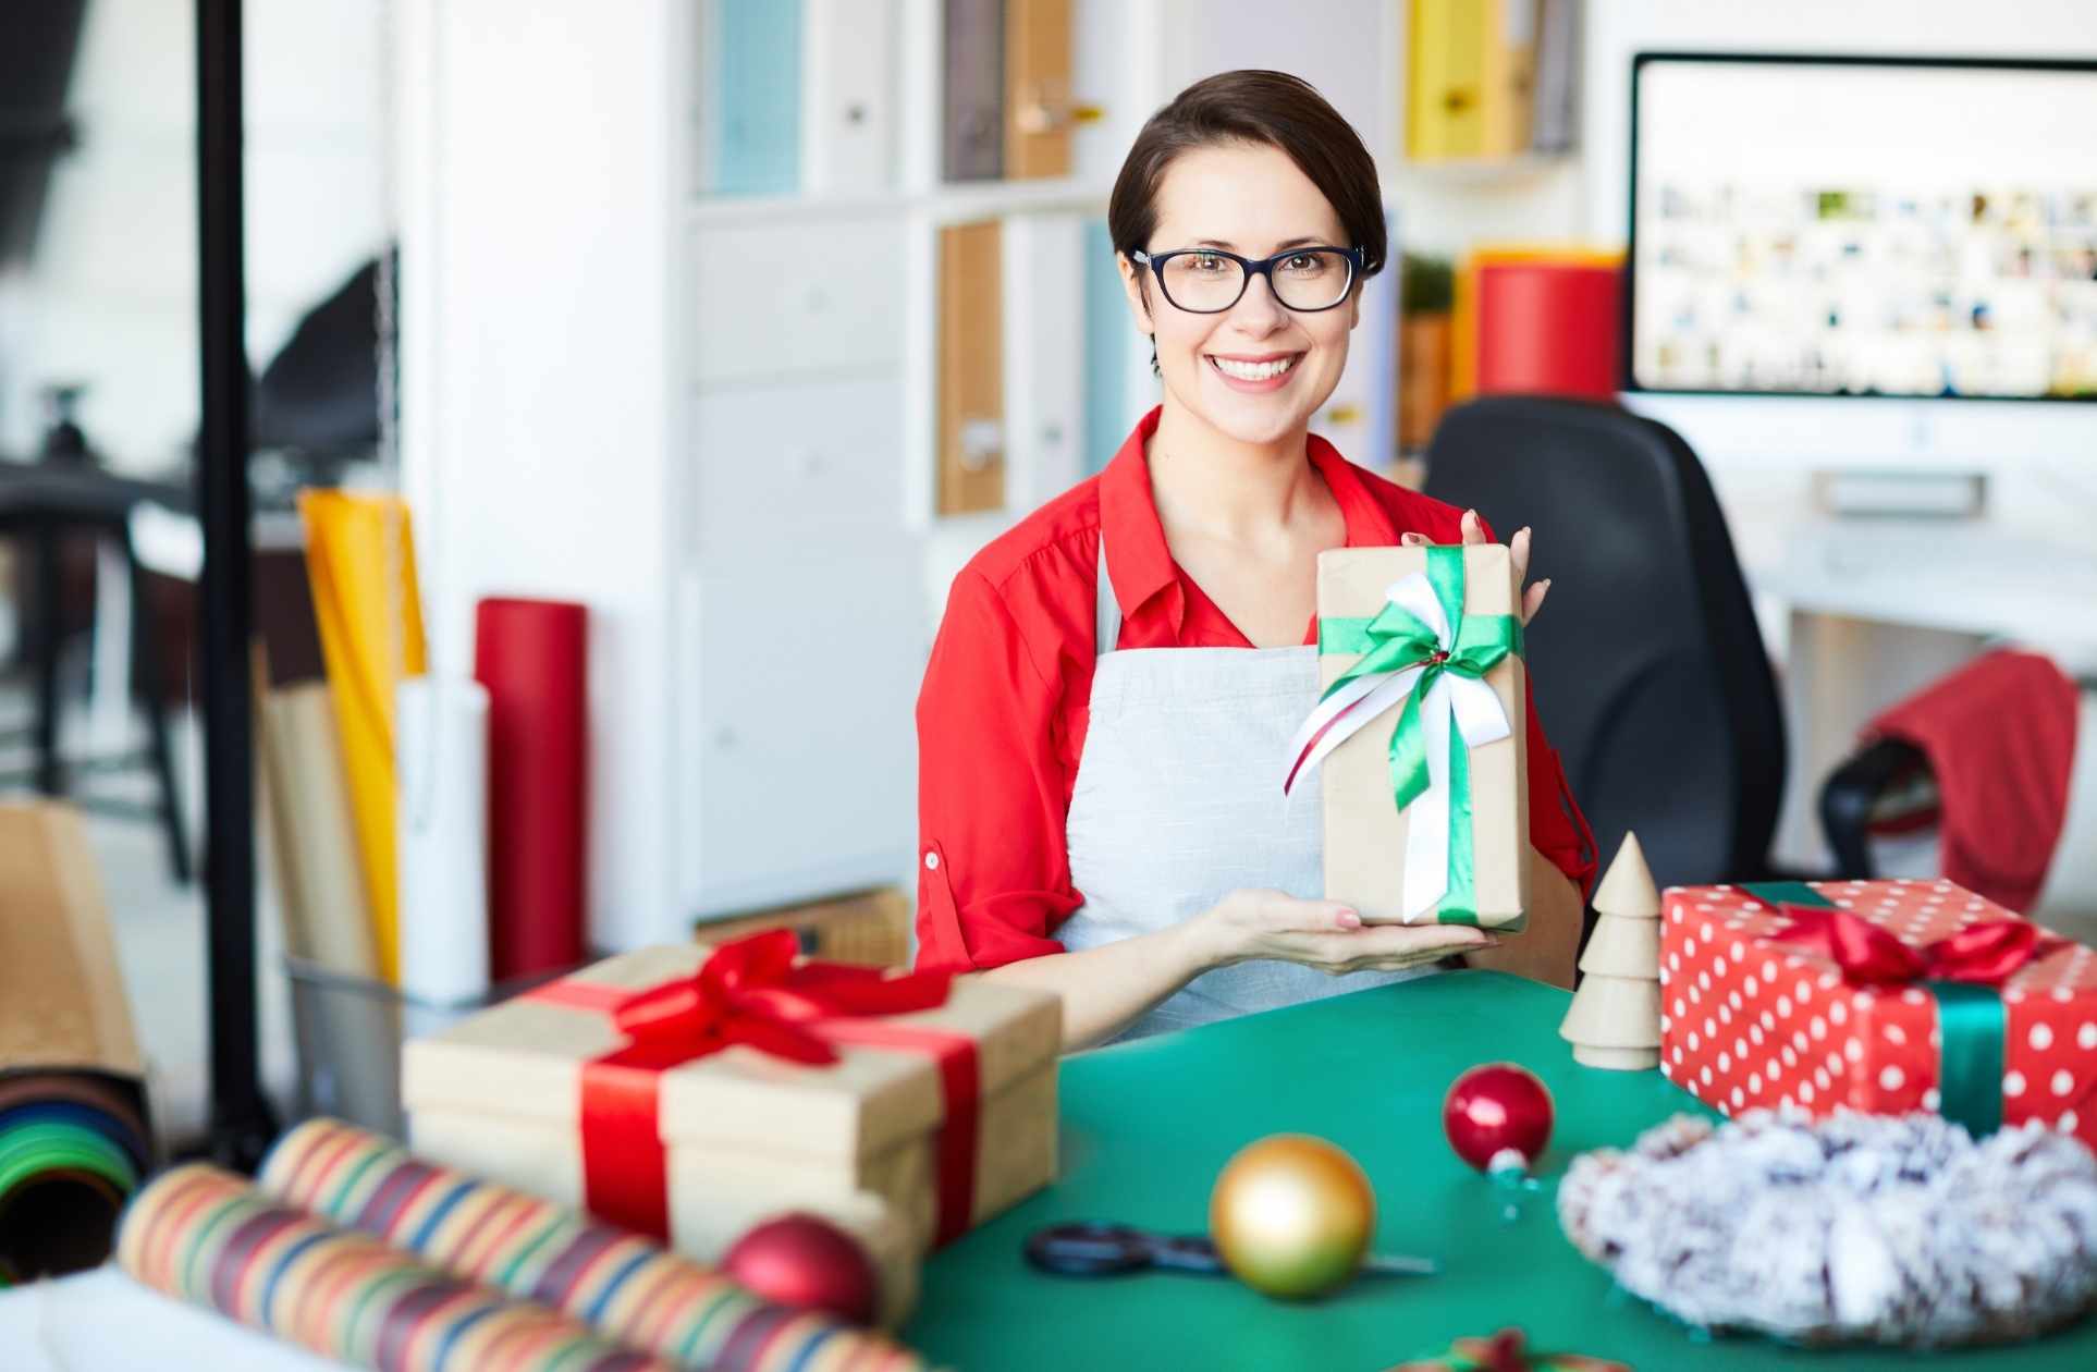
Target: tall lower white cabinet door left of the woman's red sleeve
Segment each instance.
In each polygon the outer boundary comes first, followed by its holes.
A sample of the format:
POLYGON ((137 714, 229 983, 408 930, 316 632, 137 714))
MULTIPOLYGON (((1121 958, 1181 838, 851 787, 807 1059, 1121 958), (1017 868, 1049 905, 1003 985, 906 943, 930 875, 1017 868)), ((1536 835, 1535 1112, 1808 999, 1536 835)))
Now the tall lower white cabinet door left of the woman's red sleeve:
POLYGON ((679 892, 723 915, 893 881, 916 843, 921 554, 776 550, 684 587, 679 892))

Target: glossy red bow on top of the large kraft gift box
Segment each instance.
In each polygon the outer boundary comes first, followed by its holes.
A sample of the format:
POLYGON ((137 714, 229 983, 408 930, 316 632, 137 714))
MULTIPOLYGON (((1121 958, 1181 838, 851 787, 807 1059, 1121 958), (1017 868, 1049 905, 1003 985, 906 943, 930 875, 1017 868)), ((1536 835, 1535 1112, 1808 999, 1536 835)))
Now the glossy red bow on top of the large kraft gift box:
POLYGON ((877 967, 801 963, 801 940, 770 929, 721 944, 688 978, 675 978, 619 1003, 619 1032, 635 1047, 692 1059, 742 1043, 826 1066, 837 1049, 809 1032, 833 1017, 906 1015, 946 1005, 952 973, 885 976, 877 967))

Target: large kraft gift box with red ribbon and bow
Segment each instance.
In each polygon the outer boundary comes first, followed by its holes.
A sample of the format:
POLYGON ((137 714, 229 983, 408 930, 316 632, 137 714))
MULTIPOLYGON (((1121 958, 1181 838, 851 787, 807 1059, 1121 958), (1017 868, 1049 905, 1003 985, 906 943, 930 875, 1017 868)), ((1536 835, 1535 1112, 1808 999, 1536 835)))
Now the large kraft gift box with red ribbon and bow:
POLYGON ((776 929, 411 1041, 401 1091, 417 1152, 700 1261, 791 1208, 874 1248, 887 1213, 914 1261, 1051 1181, 1059 1047, 1053 994, 818 963, 776 929))

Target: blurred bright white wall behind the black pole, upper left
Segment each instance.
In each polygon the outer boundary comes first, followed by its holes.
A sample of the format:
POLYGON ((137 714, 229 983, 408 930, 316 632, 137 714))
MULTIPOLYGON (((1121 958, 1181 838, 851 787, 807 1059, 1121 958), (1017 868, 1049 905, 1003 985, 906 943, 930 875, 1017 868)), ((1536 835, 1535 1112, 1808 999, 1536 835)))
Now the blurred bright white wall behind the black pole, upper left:
MULTIPOLYGON (((375 0, 247 0, 247 350, 384 237, 375 0)), ((0 21, 4 23, 4 21, 0 21)), ((195 6, 92 0, 34 264, 0 285, 0 451, 34 447, 52 382, 117 468, 164 468, 197 430, 195 6)))

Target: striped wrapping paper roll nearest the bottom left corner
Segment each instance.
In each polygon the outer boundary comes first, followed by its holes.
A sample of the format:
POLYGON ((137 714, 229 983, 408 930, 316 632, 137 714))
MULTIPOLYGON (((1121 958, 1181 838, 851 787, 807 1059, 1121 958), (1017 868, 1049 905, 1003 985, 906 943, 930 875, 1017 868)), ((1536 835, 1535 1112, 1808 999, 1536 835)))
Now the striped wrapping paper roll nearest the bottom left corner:
POLYGON ((170 1296, 380 1372, 669 1372, 566 1315, 424 1267, 206 1164, 138 1194, 117 1263, 170 1296))

